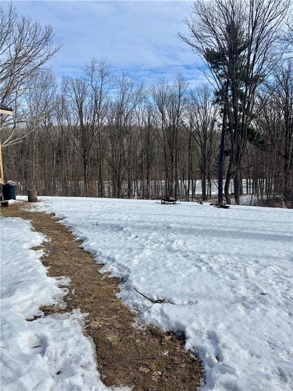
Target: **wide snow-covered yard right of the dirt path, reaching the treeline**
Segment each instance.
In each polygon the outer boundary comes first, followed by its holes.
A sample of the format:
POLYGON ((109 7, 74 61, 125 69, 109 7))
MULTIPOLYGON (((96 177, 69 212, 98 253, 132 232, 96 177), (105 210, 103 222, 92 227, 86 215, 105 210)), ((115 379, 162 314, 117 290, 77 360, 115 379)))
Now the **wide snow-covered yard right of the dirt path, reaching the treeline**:
POLYGON ((185 333, 204 362, 204 389, 292 389, 291 210, 41 200, 103 271, 124 278, 120 297, 145 322, 185 333))

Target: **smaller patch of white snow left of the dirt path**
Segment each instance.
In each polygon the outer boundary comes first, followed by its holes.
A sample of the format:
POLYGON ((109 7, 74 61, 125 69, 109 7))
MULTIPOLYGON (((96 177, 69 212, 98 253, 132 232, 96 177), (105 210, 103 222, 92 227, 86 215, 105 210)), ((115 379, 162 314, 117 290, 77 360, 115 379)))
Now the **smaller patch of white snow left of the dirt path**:
MULTIPOLYGON (((109 391, 96 369, 84 314, 41 316, 40 306, 65 305, 69 278, 46 275, 39 246, 45 237, 20 218, 1 219, 2 391, 109 391)), ((120 388, 122 391, 122 388, 120 388)), ((124 388, 126 391, 126 388, 124 388)))

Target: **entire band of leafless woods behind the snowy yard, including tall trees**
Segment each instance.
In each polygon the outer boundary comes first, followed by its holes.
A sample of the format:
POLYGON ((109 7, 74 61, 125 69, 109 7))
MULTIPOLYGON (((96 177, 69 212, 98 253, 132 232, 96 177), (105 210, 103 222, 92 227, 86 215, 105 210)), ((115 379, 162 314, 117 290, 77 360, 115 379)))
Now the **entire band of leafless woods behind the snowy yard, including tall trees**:
POLYGON ((95 58, 58 83, 43 67, 59 49, 52 29, 1 8, 1 98, 15 113, 2 118, 6 180, 88 197, 207 200, 218 188, 219 203, 232 185, 236 203, 244 192, 290 206, 289 17, 281 0, 196 2, 181 38, 211 83, 191 90, 183 75, 149 85, 95 58))

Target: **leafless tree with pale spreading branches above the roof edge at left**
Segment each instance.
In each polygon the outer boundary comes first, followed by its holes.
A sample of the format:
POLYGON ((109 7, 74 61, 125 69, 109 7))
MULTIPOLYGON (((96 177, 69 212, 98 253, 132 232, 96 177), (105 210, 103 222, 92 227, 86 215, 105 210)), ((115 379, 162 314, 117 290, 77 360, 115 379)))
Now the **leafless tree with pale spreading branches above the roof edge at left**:
MULTIPOLYGON (((2 116, 1 126, 10 127, 4 147, 15 142, 17 125, 27 121, 28 110, 22 103, 28 85, 60 49, 60 45, 53 43, 53 37, 51 26, 42 27, 28 16, 19 16, 12 4, 7 8, 0 5, 0 96, 1 103, 14 109, 12 121, 2 116)), ((43 117, 44 113, 35 116, 43 117)))

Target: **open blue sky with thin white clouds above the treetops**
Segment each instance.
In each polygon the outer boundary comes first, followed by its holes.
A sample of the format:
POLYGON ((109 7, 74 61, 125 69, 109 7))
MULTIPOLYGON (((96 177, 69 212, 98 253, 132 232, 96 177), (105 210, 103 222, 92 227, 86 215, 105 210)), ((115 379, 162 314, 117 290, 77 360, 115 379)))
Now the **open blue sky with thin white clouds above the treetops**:
POLYGON ((76 76, 93 57, 152 82, 181 72, 193 87, 207 83, 200 60, 177 33, 186 32, 188 1, 15 1, 19 14, 51 24, 63 47, 51 61, 58 77, 76 76))

